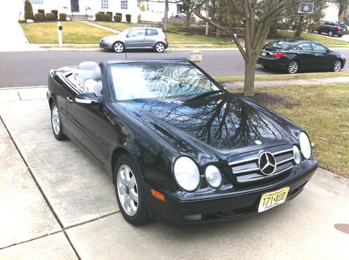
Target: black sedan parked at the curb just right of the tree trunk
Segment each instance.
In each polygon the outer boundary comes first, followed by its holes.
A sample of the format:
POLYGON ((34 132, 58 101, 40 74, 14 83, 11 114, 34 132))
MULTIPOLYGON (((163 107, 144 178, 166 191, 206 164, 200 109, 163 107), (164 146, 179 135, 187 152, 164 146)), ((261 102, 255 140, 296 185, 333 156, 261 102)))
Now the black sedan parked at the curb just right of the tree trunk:
POLYGON ((309 40, 275 40, 262 48, 257 61, 265 68, 285 70, 295 74, 299 70, 331 70, 338 72, 346 64, 346 57, 324 45, 309 40))

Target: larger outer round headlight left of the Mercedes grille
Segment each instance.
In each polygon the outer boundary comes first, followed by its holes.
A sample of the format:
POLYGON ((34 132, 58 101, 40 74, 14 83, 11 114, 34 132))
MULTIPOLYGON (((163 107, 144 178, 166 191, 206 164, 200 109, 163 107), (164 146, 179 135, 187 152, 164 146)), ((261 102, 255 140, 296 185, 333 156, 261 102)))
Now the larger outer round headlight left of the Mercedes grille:
POLYGON ((193 192, 200 184, 200 172, 195 162, 188 157, 180 157, 174 162, 174 177, 183 190, 193 192))

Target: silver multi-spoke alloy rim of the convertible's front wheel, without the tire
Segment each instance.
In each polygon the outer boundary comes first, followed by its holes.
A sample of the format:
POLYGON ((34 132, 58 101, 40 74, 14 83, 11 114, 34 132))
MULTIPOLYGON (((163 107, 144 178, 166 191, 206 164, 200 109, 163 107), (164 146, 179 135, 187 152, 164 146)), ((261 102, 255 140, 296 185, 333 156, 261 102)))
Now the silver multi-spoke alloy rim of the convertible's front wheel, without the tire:
POLYGON ((138 210, 138 185, 127 165, 121 165, 117 171, 117 193, 126 214, 135 215, 138 210))

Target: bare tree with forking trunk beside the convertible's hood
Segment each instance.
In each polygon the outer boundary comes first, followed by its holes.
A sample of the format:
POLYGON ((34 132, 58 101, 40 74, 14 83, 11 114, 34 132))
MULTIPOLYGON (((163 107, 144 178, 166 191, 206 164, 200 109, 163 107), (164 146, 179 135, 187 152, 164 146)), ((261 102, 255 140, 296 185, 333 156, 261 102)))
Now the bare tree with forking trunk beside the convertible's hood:
MULTIPOLYGON (((244 24, 244 47, 235 36, 232 24, 227 24, 227 26, 218 24, 201 15, 188 0, 182 1, 191 8, 195 15, 215 26, 216 29, 224 31, 232 38, 245 61, 244 95, 252 96, 254 93, 255 64, 263 45, 265 45, 272 20, 288 8, 298 6, 300 2, 307 0, 221 0, 227 10, 236 11, 244 24)), ((316 1, 318 0, 313 2, 316 1)))

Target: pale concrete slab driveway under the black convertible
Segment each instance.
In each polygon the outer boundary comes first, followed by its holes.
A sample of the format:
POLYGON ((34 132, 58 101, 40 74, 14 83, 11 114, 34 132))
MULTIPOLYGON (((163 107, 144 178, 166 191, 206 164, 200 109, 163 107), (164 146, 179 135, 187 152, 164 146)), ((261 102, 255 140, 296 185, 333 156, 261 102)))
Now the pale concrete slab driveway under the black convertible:
POLYGON ((349 179, 234 222, 132 227, 110 178, 52 135, 45 88, 0 90, 0 259, 348 259, 349 179))

